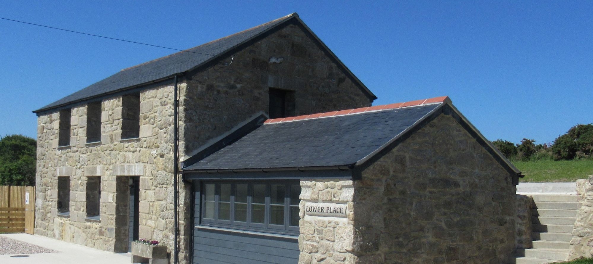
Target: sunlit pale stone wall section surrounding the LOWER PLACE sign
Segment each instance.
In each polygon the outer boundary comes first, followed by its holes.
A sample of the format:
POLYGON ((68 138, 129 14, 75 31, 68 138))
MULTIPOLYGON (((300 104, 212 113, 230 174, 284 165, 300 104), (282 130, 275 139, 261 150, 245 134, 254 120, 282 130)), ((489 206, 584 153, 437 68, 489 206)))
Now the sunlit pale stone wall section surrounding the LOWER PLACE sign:
POLYGON ((350 253, 354 230, 352 184, 352 181, 340 180, 301 181, 299 264, 355 263, 356 256, 350 253), (347 218, 305 215, 305 205, 309 202, 346 204, 347 218))

